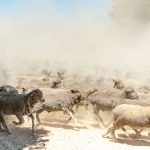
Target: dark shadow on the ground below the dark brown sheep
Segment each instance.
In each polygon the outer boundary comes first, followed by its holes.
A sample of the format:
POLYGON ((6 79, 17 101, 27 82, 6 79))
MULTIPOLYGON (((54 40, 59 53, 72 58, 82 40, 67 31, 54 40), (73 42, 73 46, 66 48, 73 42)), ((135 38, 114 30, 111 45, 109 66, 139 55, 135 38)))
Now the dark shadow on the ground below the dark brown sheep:
POLYGON ((0 133, 0 149, 22 150, 24 148, 44 149, 48 139, 42 139, 48 134, 48 130, 36 129, 36 134, 33 135, 29 127, 16 127, 11 125, 12 134, 6 132, 0 133))

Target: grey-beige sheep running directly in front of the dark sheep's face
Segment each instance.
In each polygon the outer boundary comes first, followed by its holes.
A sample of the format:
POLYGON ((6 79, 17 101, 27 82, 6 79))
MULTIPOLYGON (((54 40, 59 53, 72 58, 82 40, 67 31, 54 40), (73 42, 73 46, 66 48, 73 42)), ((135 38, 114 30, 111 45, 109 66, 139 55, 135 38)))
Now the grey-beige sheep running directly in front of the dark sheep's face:
POLYGON ((90 94, 92 94, 95 90, 87 92, 85 95, 79 90, 70 90, 70 92, 64 92, 62 94, 53 95, 51 101, 45 102, 45 104, 41 107, 40 110, 36 112, 36 118, 38 123, 41 123, 39 114, 43 111, 53 112, 53 111, 63 111, 64 114, 69 115, 68 121, 71 119, 74 120, 75 124, 78 126, 78 123, 74 117, 73 106, 77 105, 81 101, 84 101, 90 94))

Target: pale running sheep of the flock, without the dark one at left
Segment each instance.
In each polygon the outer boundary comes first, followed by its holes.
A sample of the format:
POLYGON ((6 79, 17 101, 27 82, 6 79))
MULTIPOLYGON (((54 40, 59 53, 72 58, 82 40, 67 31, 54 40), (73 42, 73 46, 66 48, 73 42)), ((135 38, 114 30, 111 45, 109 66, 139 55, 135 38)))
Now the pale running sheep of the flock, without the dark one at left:
MULTIPOLYGON (((45 74, 49 77, 51 73, 46 72, 45 74)), ((57 92, 51 94, 49 99, 45 99, 45 103, 36 111, 38 123, 41 123, 40 114, 43 111, 62 111, 64 115, 67 116, 67 121, 73 120, 78 127, 79 123, 74 114, 78 111, 80 106, 85 106, 85 108, 88 109, 90 105, 98 123, 103 127, 108 127, 103 137, 110 134, 113 141, 116 141, 115 131, 118 129, 126 131, 125 126, 131 127, 135 131, 136 136, 139 136, 145 128, 150 127, 150 103, 140 100, 134 88, 125 87, 121 80, 112 80, 113 88, 119 92, 121 91, 118 97, 102 94, 97 88, 86 92, 77 88, 63 88, 63 74, 58 72, 57 75, 58 78, 52 82, 51 88, 57 88, 56 90, 59 90, 59 87, 61 87, 61 92, 59 92, 59 94, 57 92), (111 111, 113 114, 111 122, 105 124, 99 114, 100 111, 111 111)), ((43 82, 48 80, 48 78, 44 78, 43 82)), ((27 91, 26 88, 22 88, 23 94, 26 94, 27 91)))

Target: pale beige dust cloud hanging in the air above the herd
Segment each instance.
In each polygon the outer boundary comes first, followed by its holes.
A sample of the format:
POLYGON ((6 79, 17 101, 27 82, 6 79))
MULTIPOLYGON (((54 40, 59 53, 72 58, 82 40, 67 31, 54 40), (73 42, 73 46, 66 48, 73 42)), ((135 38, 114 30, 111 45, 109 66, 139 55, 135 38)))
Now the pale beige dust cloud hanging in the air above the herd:
POLYGON ((1 83, 55 67, 89 75, 148 75, 149 0, 113 0, 110 10, 98 12, 83 8, 61 14, 53 0, 9 6, 0 16, 1 83))

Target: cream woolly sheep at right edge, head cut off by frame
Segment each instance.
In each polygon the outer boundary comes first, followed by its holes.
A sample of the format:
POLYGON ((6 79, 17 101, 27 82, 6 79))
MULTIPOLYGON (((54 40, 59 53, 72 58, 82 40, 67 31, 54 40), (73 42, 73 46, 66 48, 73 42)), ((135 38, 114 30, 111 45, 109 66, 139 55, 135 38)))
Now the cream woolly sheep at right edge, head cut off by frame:
POLYGON ((115 131, 124 126, 130 126, 136 132, 136 135, 139 135, 143 129, 150 127, 150 106, 122 104, 115 107, 113 110, 113 125, 103 137, 111 133, 112 140, 116 141, 115 131))

